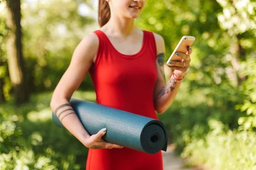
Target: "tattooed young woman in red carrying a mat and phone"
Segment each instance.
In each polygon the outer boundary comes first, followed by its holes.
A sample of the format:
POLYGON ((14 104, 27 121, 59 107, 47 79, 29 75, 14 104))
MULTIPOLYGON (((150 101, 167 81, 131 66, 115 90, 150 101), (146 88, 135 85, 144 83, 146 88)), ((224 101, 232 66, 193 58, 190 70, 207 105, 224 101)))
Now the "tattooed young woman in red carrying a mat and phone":
POLYGON ((147 154, 105 142, 101 137, 106 128, 90 136, 69 103, 89 71, 102 105, 153 119, 158 119, 155 111, 163 113, 171 105, 190 66, 192 48, 176 53, 183 62, 170 62, 174 72, 166 84, 163 38, 134 26, 144 5, 145 0, 99 0, 101 28, 81 40, 53 93, 52 110, 89 148, 87 170, 163 170, 161 152, 147 154))

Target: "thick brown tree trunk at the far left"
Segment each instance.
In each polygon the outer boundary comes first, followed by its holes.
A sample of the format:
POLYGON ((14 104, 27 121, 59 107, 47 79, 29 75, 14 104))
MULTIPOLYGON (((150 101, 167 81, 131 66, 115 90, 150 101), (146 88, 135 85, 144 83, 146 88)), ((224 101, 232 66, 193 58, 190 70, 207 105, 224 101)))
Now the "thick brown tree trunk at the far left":
POLYGON ((26 75, 22 55, 21 26, 20 26, 20 0, 6 0, 7 18, 6 26, 9 27, 7 44, 7 59, 10 79, 16 104, 29 100, 26 88, 26 75))

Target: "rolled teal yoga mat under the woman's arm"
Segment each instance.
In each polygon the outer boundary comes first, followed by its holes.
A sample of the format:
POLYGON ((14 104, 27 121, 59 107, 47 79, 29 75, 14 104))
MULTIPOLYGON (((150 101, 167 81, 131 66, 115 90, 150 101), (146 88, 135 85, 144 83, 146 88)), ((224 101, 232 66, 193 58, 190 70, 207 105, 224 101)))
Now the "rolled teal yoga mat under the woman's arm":
MULTIPOLYGON (((166 127, 159 120, 79 99, 71 98, 70 104, 90 135, 107 127, 102 136, 107 142, 149 154, 167 150, 166 127)), ((54 112, 52 119, 64 127, 54 112)))

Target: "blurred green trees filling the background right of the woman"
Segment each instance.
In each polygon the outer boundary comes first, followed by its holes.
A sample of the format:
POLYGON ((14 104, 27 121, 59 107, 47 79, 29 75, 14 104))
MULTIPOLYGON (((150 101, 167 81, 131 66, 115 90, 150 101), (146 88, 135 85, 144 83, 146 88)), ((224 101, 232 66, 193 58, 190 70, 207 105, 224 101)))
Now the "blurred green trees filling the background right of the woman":
POLYGON ((170 115, 166 121, 170 136, 180 151, 192 138, 204 138, 209 119, 230 129, 247 122, 241 119, 238 123, 245 113, 235 107, 239 108, 236 105, 242 105, 243 99, 254 99, 249 98, 254 94, 250 93, 254 91, 254 77, 250 74, 249 80, 244 69, 253 70, 250 60, 255 59, 256 52, 255 16, 252 0, 147 1, 136 24, 163 36, 166 60, 183 35, 196 37, 191 67, 175 99, 177 103, 166 113, 170 115), (246 88, 246 84, 250 86, 246 88))

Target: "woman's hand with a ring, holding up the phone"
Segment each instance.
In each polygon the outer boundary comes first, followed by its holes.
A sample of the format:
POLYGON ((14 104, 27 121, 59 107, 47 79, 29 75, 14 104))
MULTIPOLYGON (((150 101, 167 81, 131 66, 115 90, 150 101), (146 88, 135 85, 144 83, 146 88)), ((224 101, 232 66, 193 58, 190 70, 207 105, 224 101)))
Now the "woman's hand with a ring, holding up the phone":
POLYGON ((186 54, 177 52, 176 55, 180 57, 181 61, 170 61, 169 68, 172 68, 175 70, 175 74, 177 75, 178 79, 182 79, 184 77, 184 74, 190 67, 190 54, 192 54, 192 48, 189 47, 186 54))

